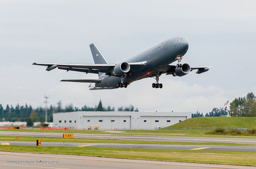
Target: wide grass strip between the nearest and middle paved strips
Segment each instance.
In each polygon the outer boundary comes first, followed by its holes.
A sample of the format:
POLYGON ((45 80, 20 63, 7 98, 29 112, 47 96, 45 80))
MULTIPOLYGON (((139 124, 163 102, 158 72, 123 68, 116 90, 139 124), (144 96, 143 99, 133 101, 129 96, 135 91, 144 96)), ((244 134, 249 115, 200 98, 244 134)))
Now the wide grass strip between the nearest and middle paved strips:
POLYGON ((0 145, 2 151, 256 166, 256 152, 0 145))

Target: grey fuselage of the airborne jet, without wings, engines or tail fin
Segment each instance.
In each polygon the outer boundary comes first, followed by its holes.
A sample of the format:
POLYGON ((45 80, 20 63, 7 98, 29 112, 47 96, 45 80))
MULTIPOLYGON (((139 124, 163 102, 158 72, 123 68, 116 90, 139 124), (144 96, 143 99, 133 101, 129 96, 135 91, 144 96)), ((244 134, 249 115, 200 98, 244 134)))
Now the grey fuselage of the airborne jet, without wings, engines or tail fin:
MULTIPOLYGON (((153 73, 161 72, 165 66, 177 60, 177 56, 184 56, 188 50, 188 42, 181 37, 170 38, 157 45, 135 55, 134 57, 125 60, 125 62, 144 62, 146 65, 138 67, 134 73, 123 78, 123 83, 128 85, 136 80, 151 77, 153 73)), ((99 78, 101 82, 95 83, 96 88, 116 88, 116 84, 121 83, 121 78, 118 76, 106 75, 103 73, 99 78)))

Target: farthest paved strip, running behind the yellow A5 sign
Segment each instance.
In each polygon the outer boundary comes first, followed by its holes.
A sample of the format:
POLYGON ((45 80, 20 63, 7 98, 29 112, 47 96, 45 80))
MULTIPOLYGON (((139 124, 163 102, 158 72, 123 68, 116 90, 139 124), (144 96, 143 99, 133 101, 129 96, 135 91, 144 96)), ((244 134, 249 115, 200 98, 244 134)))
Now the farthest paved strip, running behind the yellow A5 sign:
MULTIPOLYGON (((72 131, 70 131, 70 132, 72 133, 72 131)), ((0 135, 16 136, 17 134, 19 134, 19 136, 32 136, 32 137, 62 137, 63 133, 0 131, 0 135)), ((256 144, 256 139, 241 138, 241 137, 240 138, 220 138, 220 137, 143 136, 143 135, 78 134, 78 133, 74 133, 74 138, 256 144)))

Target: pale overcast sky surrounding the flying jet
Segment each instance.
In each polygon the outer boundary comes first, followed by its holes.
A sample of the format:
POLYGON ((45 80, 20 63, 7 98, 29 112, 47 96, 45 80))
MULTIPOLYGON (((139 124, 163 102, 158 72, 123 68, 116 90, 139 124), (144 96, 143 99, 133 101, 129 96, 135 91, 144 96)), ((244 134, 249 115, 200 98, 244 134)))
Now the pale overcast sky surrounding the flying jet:
POLYGON ((255 1, 0 1, 0 104, 27 103, 94 107, 134 105, 140 111, 207 113, 226 101, 256 94, 255 1), (202 74, 161 75, 124 89, 90 91, 89 83, 61 79, 97 78, 33 62, 94 63, 95 43, 109 63, 167 39, 189 43, 182 63, 212 66, 202 74))

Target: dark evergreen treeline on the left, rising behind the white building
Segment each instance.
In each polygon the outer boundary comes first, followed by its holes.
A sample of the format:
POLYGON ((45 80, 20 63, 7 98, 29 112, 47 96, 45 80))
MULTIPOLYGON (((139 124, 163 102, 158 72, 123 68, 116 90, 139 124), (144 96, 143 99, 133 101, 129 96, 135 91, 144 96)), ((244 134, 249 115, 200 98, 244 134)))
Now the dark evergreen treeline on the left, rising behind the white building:
MULTIPOLYGON (((135 109, 134 106, 130 105, 128 107, 118 107, 118 111, 135 111, 138 112, 138 109, 135 109)), ((95 107, 89 107, 84 105, 81 108, 74 107, 73 104, 69 104, 66 106, 62 106, 61 101, 57 103, 57 106, 50 105, 47 108, 47 121, 53 122, 53 113, 60 113, 60 112, 75 112, 75 111, 115 111, 114 107, 103 107, 102 102, 100 100, 98 106, 95 107)), ((6 106, 6 108, 3 107, 2 104, 0 104, 0 122, 1 121, 10 121, 10 122, 45 122, 46 118, 46 108, 45 107, 37 107, 35 109, 32 108, 32 106, 28 106, 25 104, 25 106, 20 106, 17 104, 15 107, 12 105, 9 106, 9 104, 6 106)))

